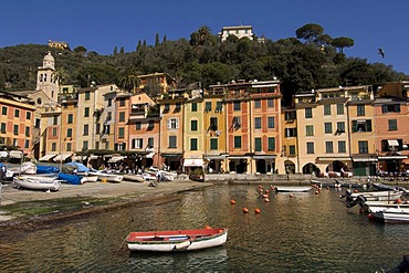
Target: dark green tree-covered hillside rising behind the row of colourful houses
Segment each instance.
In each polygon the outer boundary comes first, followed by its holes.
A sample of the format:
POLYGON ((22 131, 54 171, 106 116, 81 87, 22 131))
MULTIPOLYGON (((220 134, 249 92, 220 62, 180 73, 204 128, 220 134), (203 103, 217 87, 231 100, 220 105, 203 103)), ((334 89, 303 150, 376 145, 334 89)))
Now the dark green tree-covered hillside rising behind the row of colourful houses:
POLYGON ((167 41, 164 36, 160 42, 157 34, 155 45, 138 41, 134 52, 125 53, 123 46, 119 51, 115 46, 112 55, 99 55, 84 46, 63 51, 20 44, 0 49, 0 91, 34 90, 36 69, 48 51, 55 57, 62 84, 124 83, 128 73, 135 76, 155 72, 168 73, 178 87, 201 82, 206 88, 218 82, 276 77, 284 104, 297 91, 359 84, 377 87, 408 78, 389 65, 347 56, 345 52, 352 46, 353 39, 332 38, 318 24, 301 27, 295 38, 264 42, 234 35, 220 42, 208 27, 201 27, 190 34, 190 40, 167 41))

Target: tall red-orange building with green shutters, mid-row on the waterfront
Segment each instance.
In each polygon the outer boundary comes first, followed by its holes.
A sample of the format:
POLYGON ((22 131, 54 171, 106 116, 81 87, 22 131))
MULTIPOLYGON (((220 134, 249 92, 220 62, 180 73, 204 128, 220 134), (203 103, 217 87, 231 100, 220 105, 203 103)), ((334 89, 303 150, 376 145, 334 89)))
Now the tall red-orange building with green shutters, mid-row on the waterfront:
POLYGON ((228 170, 237 174, 274 170, 281 147, 279 81, 240 81, 210 88, 224 93, 228 170))

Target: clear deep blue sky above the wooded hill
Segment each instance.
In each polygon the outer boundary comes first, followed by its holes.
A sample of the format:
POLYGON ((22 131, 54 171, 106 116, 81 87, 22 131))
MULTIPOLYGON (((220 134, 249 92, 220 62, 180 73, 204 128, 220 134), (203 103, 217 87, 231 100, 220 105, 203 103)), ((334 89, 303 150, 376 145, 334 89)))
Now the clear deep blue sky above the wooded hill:
POLYGON ((385 63, 409 75, 408 0, 13 0, 1 2, 0 48, 65 41, 99 54, 135 51, 137 42, 189 39, 200 27, 252 25, 258 36, 294 38, 306 23, 348 36, 347 56, 385 63), (384 49, 385 59, 378 54, 384 49))

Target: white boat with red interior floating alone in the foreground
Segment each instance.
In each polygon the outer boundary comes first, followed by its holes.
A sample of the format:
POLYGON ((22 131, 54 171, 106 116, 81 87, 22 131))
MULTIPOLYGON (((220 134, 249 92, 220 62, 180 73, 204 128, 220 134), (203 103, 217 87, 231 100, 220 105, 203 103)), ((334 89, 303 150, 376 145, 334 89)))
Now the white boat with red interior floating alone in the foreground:
POLYGON ((228 229, 130 232, 125 239, 130 251, 175 252, 223 245, 228 229))

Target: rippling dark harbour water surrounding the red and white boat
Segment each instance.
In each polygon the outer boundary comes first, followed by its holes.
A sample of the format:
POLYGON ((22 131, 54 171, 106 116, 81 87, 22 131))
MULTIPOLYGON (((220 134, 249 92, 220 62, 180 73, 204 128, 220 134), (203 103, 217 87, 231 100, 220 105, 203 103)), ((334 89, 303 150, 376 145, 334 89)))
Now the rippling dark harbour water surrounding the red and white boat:
POLYGON ((346 209, 340 193, 271 192, 265 202, 258 186, 222 185, 52 229, 0 231, 0 272, 376 272, 398 264, 409 253, 409 225, 370 222, 346 209), (227 244, 158 254, 130 253, 124 243, 129 231, 204 225, 229 228, 227 244))

